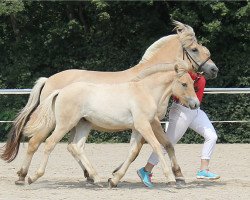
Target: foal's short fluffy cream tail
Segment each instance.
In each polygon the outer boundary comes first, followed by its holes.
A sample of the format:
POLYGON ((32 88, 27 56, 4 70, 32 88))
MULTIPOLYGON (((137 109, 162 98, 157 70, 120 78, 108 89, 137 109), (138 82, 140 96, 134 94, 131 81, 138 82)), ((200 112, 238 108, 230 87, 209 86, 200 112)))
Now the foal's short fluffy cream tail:
POLYGON ((50 94, 32 113, 23 128, 23 135, 32 137, 44 131, 51 131, 55 127, 54 102, 59 90, 50 94))

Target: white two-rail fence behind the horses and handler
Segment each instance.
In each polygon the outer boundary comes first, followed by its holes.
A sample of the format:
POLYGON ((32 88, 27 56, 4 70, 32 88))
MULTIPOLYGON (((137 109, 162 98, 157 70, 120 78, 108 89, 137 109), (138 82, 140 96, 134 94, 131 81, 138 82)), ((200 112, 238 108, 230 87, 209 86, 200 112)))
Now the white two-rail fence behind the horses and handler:
MULTIPOLYGON (((31 89, 0 89, 0 95, 30 94, 31 89)), ((205 88, 206 94, 249 94, 250 88, 205 88)), ((11 123, 13 121, 0 121, 0 123, 11 123)), ((167 123, 167 122, 162 122, 167 123)), ((212 123, 250 123, 250 121, 212 121, 212 123)))

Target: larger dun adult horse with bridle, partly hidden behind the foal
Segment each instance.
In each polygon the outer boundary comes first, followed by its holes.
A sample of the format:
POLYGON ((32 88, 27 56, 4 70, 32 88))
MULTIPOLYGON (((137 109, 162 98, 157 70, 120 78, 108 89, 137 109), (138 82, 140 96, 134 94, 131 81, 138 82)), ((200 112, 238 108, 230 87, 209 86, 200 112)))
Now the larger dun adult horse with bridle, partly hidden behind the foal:
MULTIPOLYGON (((177 34, 163 37, 152 44, 139 64, 136 66, 120 72, 95 72, 86 70, 66 70, 57 73, 50 78, 40 78, 35 84, 30 94, 28 103, 21 110, 15 122, 13 128, 9 133, 9 139, 4 146, 4 151, 1 153, 1 158, 7 162, 11 162, 15 159, 20 145, 23 128, 29 120, 32 113, 36 110, 37 106, 44 101, 55 90, 64 88, 65 86, 79 81, 91 82, 91 83, 122 83, 128 82, 135 78, 142 70, 147 69, 149 66, 160 63, 173 62, 176 58, 184 59, 189 63, 190 71, 200 70, 204 72, 207 78, 215 78, 217 76, 218 68, 214 62, 210 59, 210 53, 208 49, 198 44, 193 29, 185 24, 175 21, 175 29, 177 34)), ((173 69, 174 70, 174 69, 173 69)), ((167 105, 159 104, 161 109, 158 116, 162 119, 166 113, 167 105)), ((77 132, 81 132, 81 125, 77 125, 72 132, 78 135, 77 132)), ((50 127, 51 131, 53 127, 50 127)), ((155 131, 160 130, 163 134, 163 130, 159 127, 159 123, 152 124, 152 128, 155 131)), ((28 150, 22 164, 21 169, 18 172, 19 180, 18 184, 24 183, 25 177, 28 173, 29 165, 35 151, 39 145, 47 138, 48 133, 41 131, 39 134, 34 134, 28 143, 28 150)), ((132 134, 133 136, 133 134, 132 134)), ((81 163, 79 162, 81 165, 81 163)), ((173 164, 176 166, 175 164, 173 164)), ((176 170, 178 168, 173 167, 176 176, 182 177, 181 172, 178 174, 176 170), (177 175, 178 174, 178 175, 177 175)))

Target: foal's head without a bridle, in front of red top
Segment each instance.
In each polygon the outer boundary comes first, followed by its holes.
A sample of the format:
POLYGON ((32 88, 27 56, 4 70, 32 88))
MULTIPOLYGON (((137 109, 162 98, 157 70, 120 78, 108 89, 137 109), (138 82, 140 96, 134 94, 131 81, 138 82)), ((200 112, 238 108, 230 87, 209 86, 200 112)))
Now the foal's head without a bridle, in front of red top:
POLYGON ((181 104, 188 108, 196 109, 200 102, 194 91, 194 81, 187 72, 188 64, 185 61, 175 64, 176 77, 172 84, 172 94, 176 96, 181 104))

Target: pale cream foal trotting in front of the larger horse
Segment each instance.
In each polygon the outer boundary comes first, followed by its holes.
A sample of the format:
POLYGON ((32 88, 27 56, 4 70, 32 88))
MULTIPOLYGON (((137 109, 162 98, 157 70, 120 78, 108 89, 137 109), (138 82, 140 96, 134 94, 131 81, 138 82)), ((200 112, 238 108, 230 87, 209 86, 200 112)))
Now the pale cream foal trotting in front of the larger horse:
MULTIPOLYGON (((52 134, 46 139, 40 167, 28 182, 33 183, 43 176, 50 153, 79 121, 82 123, 83 136, 78 137, 76 144, 72 141, 69 146, 72 154, 82 162, 95 183, 100 183, 100 178, 87 159, 83 148, 91 129, 134 130, 135 140, 130 149, 132 155, 129 157, 137 155, 136 151, 143 137, 158 154, 167 182, 174 182, 175 177, 169 173, 161 145, 151 124, 159 121, 159 102, 168 102, 171 94, 180 98, 187 107, 199 107, 193 80, 186 71, 187 67, 183 67, 184 64, 186 64, 184 61, 175 64, 177 73, 168 71, 174 64, 157 65, 142 71, 131 82, 120 84, 75 82, 54 91, 38 106, 24 127, 23 133, 29 137, 34 133, 39 134, 41 130, 47 130, 49 133, 50 127, 55 126, 52 134)), ((166 139, 161 140, 161 143, 164 147, 168 145, 166 139)), ((117 185, 131 162, 132 160, 128 160, 126 167, 120 169, 122 173, 115 173, 109 180, 111 186, 117 185)))

